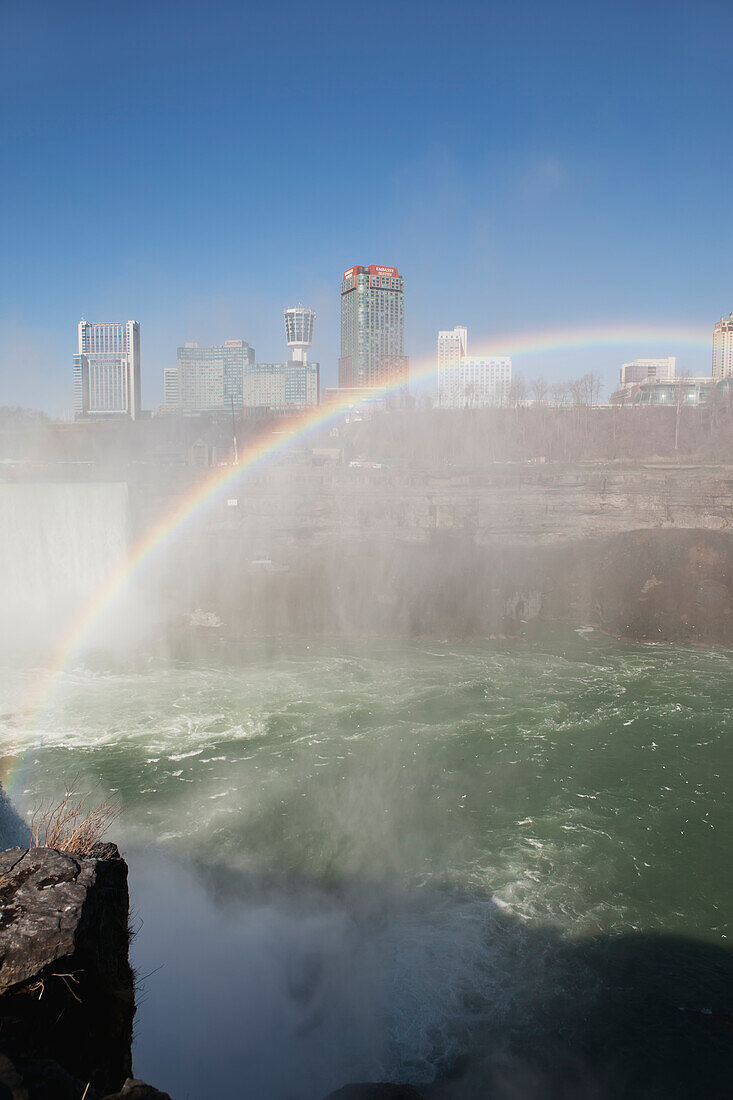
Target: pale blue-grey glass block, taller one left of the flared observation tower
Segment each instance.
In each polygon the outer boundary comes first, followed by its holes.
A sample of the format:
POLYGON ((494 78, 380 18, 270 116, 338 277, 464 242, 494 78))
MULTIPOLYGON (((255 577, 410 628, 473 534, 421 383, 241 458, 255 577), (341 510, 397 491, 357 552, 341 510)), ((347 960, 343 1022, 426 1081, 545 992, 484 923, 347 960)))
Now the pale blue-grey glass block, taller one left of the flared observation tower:
POLYGON ((184 413, 223 413, 244 404, 244 373, 254 365, 254 348, 226 340, 214 348, 178 348, 178 406, 184 413))

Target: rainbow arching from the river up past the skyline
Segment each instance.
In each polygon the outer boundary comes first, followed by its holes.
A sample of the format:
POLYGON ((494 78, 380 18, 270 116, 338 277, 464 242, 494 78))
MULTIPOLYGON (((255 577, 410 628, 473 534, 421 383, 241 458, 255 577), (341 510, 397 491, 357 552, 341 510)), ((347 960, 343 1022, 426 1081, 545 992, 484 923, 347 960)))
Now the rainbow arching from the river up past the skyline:
MULTIPOLYGON (((620 345, 652 344, 657 353, 659 348, 685 346, 696 351, 710 346, 710 333, 688 327, 649 326, 649 324, 614 324, 587 328, 551 329, 525 334, 513 334, 492 339, 490 346, 480 352, 471 349, 472 355, 512 355, 532 356, 558 351, 578 349, 613 348, 620 345)), ((413 365, 411 369, 411 385, 423 388, 433 382, 437 375, 435 362, 413 365)), ((369 396, 386 397, 400 388, 400 383, 369 391, 369 396)), ((119 562, 102 584, 94 592, 90 600, 81 608, 79 615, 69 625, 56 647, 54 654, 45 667, 33 696, 25 712, 31 721, 37 724, 39 717, 50 701, 54 684, 61 672, 72 659, 83 649, 103 612, 110 607, 124 586, 135 576, 142 566, 160 552, 174 536, 185 527, 193 516, 197 515, 216 494, 236 479, 241 479, 250 471, 262 466, 280 452, 300 442, 320 428, 339 420, 357 404, 353 395, 337 400, 328 406, 319 406, 302 416, 293 426, 293 430, 252 443, 239 457, 233 466, 217 468, 208 476, 197 483, 188 493, 182 496, 141 538, 131 547, 127 557, 119 562)), ((293 421, 291 421, 293 422, 293 421)), ((18 778, 20 759, 11 762, 6 771, 6 789, 12 793, 12 784, 18 778)))

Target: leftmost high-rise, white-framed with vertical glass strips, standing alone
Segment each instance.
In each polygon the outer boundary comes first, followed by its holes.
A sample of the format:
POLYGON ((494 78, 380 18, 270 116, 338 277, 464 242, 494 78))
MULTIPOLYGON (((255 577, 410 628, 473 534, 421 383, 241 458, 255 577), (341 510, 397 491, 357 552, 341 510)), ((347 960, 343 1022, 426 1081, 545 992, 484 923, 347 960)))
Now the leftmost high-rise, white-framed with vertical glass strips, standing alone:
POLYGON ((140 323, 79 321, 74 356, 77 417, 140 416, 140 323))

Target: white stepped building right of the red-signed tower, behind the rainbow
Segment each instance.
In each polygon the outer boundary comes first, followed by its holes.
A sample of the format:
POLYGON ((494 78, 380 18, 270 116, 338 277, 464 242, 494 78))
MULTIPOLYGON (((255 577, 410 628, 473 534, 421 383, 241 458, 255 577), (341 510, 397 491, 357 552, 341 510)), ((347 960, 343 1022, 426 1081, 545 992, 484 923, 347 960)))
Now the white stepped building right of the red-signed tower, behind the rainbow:
POLYGON ((483 408, 506 405, 512 385, 508 355, 468 355, 468 329, 438 332, 438 405, 440 408, 483 408))

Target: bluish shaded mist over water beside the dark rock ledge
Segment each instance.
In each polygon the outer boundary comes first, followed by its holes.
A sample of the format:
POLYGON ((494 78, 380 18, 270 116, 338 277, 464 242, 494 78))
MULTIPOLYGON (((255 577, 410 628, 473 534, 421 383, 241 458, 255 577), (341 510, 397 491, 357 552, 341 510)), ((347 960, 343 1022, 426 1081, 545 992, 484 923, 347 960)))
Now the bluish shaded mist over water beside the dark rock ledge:
MULTIPOLYGON (((348 1079, 431 1082, 480 1033, 526 1024, 527 1005, 567 978, 549 941, 489 899, 379 883, 284 889, 231 873, 207 892, 206 870, 134 856, 132 868, 146 914, 138 966, 164 966, 150 990, 171 1007, 162 1015, 143 1003, 138 1056, 149 1076, 196 1096, 228 1094, 234 1042, 255 1096, 307 1100, 348 1079), (206 1059, 186 1038, 203 1015, 206 1059)), ((573 982, 588 994, 589 975, 573 982)))

